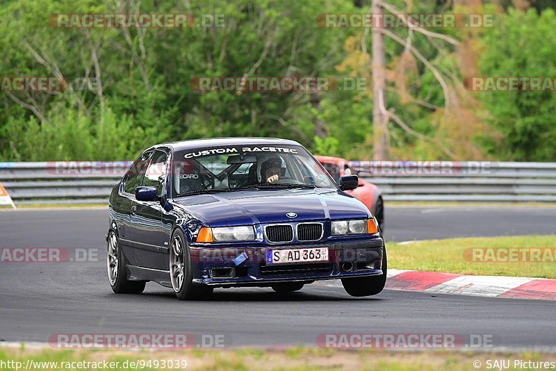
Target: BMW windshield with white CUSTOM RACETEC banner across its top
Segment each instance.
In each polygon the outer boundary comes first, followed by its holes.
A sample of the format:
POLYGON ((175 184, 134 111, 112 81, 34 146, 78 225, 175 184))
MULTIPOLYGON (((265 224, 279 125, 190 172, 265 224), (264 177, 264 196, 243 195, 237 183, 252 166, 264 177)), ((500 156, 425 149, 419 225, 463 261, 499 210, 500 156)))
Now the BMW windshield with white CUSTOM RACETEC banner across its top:
POLYGON ((245 189, 334 188, 320 164, 300 146, 229 146, 177 151, 174 197, 245 189))

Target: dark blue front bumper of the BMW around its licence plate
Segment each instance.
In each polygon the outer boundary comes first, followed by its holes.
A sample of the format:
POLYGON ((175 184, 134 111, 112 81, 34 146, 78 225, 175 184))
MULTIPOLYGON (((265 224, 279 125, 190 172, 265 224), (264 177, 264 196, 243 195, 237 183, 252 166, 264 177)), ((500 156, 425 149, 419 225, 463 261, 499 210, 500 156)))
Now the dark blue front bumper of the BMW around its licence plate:
POLYGON ((210 286, 270 286, 284 281, 317 281, 382 274, 384 241, 379 236, 342 241, 295 245, 247 245, 207 247, 190 245, 193 282, 210 286), (268 249, 328 247, 329 261, 267 265, 268 249), (234 258, 244 253, 247 259, 236 265, 234 258), (226 272, 227 274, 221 274, 226 272), (220 276, 220 278, 216 278, 220 276), (225 276, 225 277, 222 277, 225 276))

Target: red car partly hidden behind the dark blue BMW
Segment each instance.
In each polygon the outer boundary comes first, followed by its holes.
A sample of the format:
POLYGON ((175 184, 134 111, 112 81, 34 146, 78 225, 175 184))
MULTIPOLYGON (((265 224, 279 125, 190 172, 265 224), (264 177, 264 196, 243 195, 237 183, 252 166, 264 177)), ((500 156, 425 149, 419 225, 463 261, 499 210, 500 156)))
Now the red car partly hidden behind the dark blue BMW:
MULTIPOLYGON (((344 158, 330 156, 315 156, 332 175, 332 178, 338 183, 340 176, 352 174, 349 162, 344 158)), ((373 215, 377 218, 380 231, 384 231, 384 201, 382 194, 377 186, 368 181, 359 178, 359 187, 354 190, 347 190, 346 193, 352 195, 367 206, 373 215)))

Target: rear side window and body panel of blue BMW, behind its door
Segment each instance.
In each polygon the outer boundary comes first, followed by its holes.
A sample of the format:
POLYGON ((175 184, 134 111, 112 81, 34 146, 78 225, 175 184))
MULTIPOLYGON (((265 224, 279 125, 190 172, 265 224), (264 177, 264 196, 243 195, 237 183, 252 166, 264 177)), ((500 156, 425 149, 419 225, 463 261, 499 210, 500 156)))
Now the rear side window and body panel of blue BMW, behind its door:
POLYGON ((135 189, 141 185, 143 176, 147 170, 152 151, 141 154, 131 165, 127 171, 120 191, 118 192, 117 203, 113 205, 118 213, 117 231, 120 236, 120 245, 127 260, 131 265, 136 265, 136 258, 133 252, 133 244, 131 241, 132 224, 131 224, 131 206, 135 201, 135 189))

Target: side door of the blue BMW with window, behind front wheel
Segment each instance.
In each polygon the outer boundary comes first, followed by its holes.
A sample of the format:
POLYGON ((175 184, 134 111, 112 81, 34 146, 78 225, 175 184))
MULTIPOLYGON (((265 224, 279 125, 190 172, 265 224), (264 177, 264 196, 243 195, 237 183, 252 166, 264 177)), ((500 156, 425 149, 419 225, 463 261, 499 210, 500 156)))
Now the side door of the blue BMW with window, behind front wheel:
MULTIPOLYGON (((149 160, 141 186, 155 187, 158 195, 165 192, 168 155, 156 150, 149 160)), ((163 206, 160 200, 138 201, 131 205, 131 240, 135 247, 136 262, 139 267, 167 270, 163 251, 166 232, 162 222, 163 206)))

